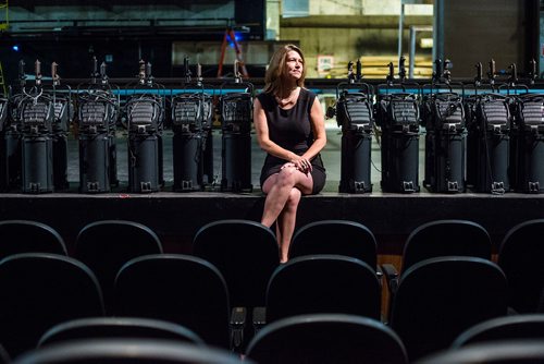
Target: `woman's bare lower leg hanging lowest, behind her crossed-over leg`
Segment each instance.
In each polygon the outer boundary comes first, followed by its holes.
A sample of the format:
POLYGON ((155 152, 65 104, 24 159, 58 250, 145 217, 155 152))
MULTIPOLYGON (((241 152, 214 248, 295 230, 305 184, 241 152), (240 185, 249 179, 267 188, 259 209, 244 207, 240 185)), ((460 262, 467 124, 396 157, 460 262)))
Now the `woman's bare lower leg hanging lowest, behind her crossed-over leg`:
POLYGON ((300 190, 292 189, 287 203, 276 221, 276 238, 280 245, 280 262, 285 263, 288 259, 290 240, 295 232, 297 221, 297 208, 300 197, 302 196, 300 190))

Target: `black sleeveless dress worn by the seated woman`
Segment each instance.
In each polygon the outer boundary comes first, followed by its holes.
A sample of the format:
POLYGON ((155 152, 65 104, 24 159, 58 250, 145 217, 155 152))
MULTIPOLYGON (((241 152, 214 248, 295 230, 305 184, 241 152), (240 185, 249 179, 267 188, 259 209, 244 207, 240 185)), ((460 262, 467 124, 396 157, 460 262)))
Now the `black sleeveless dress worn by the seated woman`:
MULTIPOLYGON (((308 147, 313 143, 310 110, 316 99, 316 94, 301 88, 297 102, 288 110, 282 109, 272 94, 261 93, 257 98, 267 114, 270 139, 282 148, 288 149, 299 156, 308 150, 308 147)), ((261 186, 270 175, 279 173, 282 166, 287 161, 267 154, 261 170, 261 186)), ((312 194, 317 194, 325 185, 325 168, 319 154, 310 161, 312 165, 311 177, 313 179, 312 194)))

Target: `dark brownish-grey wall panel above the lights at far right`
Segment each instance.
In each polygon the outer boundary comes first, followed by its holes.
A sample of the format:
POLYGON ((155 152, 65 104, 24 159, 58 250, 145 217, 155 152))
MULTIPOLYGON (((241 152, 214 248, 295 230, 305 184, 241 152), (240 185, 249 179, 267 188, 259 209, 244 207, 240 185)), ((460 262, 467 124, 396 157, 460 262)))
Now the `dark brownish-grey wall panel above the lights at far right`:
POLYGON ((473 77, 474 64, 494 59, 497 71, 516 63, 520 73, 539 60, 539 8, 534 0, 445 0, 444 58, 454 77, 473 77))

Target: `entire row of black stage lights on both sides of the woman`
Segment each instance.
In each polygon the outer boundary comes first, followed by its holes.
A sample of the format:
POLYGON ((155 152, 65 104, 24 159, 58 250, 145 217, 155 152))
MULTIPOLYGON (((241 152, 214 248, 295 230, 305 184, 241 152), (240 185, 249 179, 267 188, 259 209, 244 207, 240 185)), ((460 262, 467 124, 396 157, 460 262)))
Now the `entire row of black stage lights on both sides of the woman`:
MULTIPOLYGON (((544 96, 530 88, 536 78, 534 61, 530 77, 522 82, 515 64, 509 66, 508 80, 497 80, 493 60, 489 78, 483 80, 479 63, 470 84, 452 81, 447 60, 434 62, 428 84, 406 80, 404 61, 399 61, 398 78, 390 63, 386 82, 375 87, 363 82, 360 62, 355 71, 350 62, 347 81, 337 84, 335 107, 326 114, 336 117, 343 132, 339 192, 372 191, 374 139, 381 148, 382 191, 420 191, 422 129, 428 190, 544 190, 544 96), (468 87, 471 93, 466 93, 468 87)), ((99 68, 96 59, 89 82, 75 92, 62 87, 54 62, 51 85, 44 85, 37 61, 35 83, 28 86, 21 62, 18 89, 12 89, 0 104, 0 187, 23 193, 65 190, 66 137, 73 122, 79 143, 79 192, 110 192, 119 184, 115 130, 121 120, 128 131, 128 191, 160 191, 168 114, 174 131, 174 191, 201 191, 213 183, 215 117, 222 132, 221 191, 252 191, 252 84, 242 78, 235 63, 234 78, 225 81, 214 97, 203 84, 200 66, 194 80, 188 58, 184 63, 186 92, 166 100, 164 86, 153 80, 151 64, 144 61, 137 80, 125 86, 125 90, 133 87, 132 93, 123 98, 121 89, 110 83, 106 64, 99 68), (226 87, 235 89, 225 92, 226 87)))

